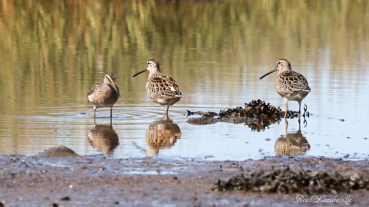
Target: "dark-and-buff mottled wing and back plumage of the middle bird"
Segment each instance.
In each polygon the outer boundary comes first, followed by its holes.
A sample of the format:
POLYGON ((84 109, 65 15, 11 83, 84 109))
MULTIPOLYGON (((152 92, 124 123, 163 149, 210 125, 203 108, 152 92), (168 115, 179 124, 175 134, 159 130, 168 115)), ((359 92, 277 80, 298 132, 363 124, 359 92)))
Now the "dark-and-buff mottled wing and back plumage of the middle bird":
POLYGON ((161 73, 149 78, 146 84, 146 91, 153 100, 182 97, 178 85, 173 78, 161 73))

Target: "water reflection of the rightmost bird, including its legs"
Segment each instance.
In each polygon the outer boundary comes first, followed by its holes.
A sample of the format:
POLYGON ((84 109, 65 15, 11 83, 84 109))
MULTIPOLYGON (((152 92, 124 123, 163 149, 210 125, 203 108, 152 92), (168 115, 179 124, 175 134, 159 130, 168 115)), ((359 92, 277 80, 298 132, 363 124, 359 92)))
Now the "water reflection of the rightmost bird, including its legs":
POLYGON ((284 134, 277 139, 274 145, 276 155, 304 155, 310 150, 310 144, 301 133, 300 121, 299 130, 296 133, 287 133, 288 122, 286 118, 285 122, 286 129, 284 134))

